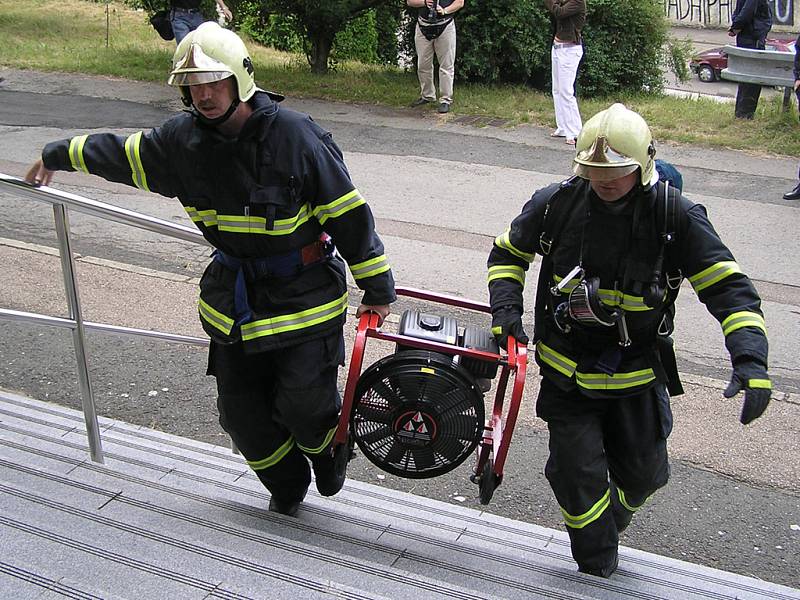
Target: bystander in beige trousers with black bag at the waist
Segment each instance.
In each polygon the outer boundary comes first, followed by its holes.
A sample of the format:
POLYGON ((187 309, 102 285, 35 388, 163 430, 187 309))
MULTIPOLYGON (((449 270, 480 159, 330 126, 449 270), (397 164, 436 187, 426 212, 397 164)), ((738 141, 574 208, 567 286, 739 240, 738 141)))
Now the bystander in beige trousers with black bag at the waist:
POLYGON ((440 114, 450 112, 453 103, 453 77, 456 61, 456 23, 453 15, 464 7, 464 0, 407 0, 417 9, 414 46, 417 50, 417 78, 420 97, 411 106, 435 103, 433 57, 439 62, 440 114))

